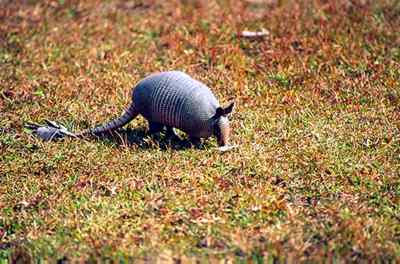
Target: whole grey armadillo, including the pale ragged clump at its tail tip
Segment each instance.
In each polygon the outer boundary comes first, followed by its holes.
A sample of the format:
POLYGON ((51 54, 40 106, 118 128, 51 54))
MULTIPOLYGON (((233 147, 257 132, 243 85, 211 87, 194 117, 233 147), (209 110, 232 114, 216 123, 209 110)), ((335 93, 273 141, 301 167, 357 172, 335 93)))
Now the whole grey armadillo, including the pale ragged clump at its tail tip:
POLYGON ((228 115, 234 103, 221 107, 211 90, 202 82, 180 71, 168 71, 149 75, 132 90, 132 102, 125 112, 110 122, 79 133, 71 133, 55 122, 48 126, 33 123, 28 127, 44 140, 63 136, 86 137, 115 131, 139 114, 149 122, 150 132, 164 127, 187 133, 193 140, 215 136, 220 147, 228 147, 230 125, 228 115))

